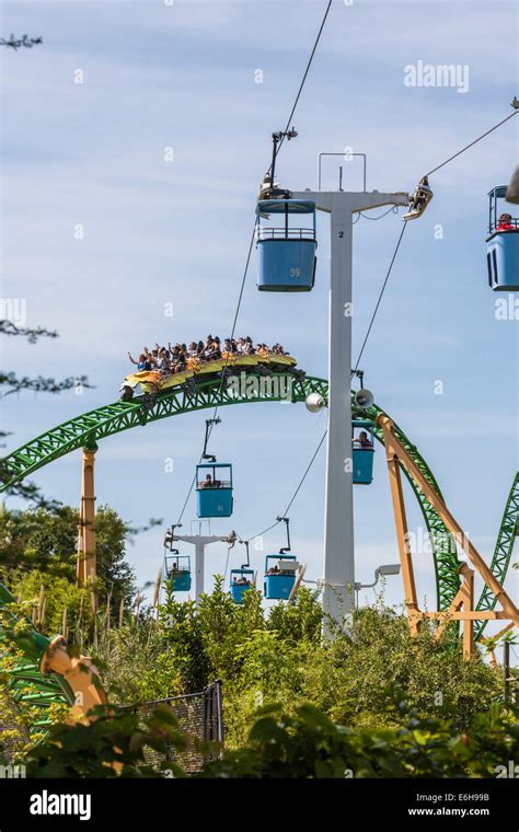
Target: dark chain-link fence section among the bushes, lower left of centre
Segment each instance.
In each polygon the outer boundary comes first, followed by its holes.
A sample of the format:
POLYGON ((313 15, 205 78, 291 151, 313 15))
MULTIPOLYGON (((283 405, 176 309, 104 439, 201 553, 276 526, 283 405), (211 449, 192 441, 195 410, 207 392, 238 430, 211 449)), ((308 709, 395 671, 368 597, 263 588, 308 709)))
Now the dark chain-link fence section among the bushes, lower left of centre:
POLYGON ((145 751, 148 763, 168 769, 165 763, 175 762, 187 774, 196 774, 201 771, 204 763, 215 759, 204 744, 216 741, 221 748, 223 743, 221 682, 212 682, 198 693, 145 702, 139 705, 137 713, 149 717, 159 705, 171 708, 180 729, 187 736, 188 744, 185 751, 177 751, 171 746, 165 754, 148 748, 145 751))

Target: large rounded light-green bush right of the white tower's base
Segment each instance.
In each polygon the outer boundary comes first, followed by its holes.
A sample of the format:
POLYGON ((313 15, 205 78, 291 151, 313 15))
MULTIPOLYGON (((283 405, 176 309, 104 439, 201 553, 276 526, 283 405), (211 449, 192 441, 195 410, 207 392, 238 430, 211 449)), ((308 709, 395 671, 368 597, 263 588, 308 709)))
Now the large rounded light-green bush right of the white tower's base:
POLYGON ((418 714, 460 729, 500 695, 498 674, 478 657, 464 661, 459 645, 426 625, 412 638, 405 617, 382 605, 357 612, 348 635, 315 650, 302 693, 338 723, 376 726, 397 717, 395 686, 418 714))

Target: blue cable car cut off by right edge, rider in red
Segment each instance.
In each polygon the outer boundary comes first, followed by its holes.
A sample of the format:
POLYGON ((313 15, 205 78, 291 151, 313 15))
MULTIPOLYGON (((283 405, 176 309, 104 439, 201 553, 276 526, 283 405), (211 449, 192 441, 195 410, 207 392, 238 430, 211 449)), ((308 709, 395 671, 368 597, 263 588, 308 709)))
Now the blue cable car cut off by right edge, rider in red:
POLYGON ((488 193, 488 286, 494 291, 519 291, 519 219, 498 212, 498 200, 506 195, 506 185, 496 185, 488 193))

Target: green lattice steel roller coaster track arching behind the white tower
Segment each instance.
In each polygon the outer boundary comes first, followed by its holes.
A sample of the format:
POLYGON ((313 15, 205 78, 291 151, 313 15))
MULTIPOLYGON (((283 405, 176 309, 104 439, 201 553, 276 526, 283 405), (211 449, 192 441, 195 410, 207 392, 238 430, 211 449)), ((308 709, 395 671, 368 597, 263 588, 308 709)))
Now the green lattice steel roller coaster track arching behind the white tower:
MULTIPOLYGON (((54 460, 80 448, 95 448, 99 440, 114 434, 119 434, 123 430, 143 427, 152 421, 158 421, 170 416, 193 413, 210 407, 224 407, 227 405, 249 404, 251 402, 278 402, 281 397, 279 394, 280 389, 282 389, 282 385, 279 384, 279 379, 281 378, 284 378, 281 374, 273 373, 263 380, 263 384, 254 385, 252 390, 247 385, 245 394, 238 393, 234 388, 223 385, 221 379, 211 379, 196 383, 191 380, 185 384, 172 388, 168 392, 155 396, 141 395, 129 402, 119 401, 104 407, 99 407, 95 411, 90 411, 42 434, 5 457, 1 462, 0 473, 2 484, 0 492, 4 492, 16 482, 44 465, 48 465, 54 460), (276 383, 276 380, 278 380, 278 383, 276 383)), ((319 393, 326 400, 327 391, 327 381, 324 379, 305 377, 303 374, 296 375, 292 379, 291 401, 293 403, 304 402, 310 393, 319 393)), ((351 394, 351 409, 355 416, 368 417, 373 420, 379 414, 383 413, 376 404, 368 409, 360 409, 355 402, 354 394, 351 394)), ((438 483, 416 446, 407 439, 397 425, 395 425, 395 432, 415 464, 437 494, 441 496, 438 483)), ((383 444, 381 428, 376 427, 374 435, 383 444)), ((436 571, 438 610, 446 610, 454 598, 460 585, 455 544, 441 518, 416 485, 405 466, 403 465, 402 467, 416 495, 429 533, 436 571)), ((515 478, 507 501, 491 564, 493 574, 501 583, 505 581, 510 563, 518 529, 518 518, 519 474, 515 478)), ((495 598, 489 588, 485 586, 477 609, 492 610, 494 606, 495 598)), ((481 636, 484 626, 485 623, 480 625, 477 636, 481 636)), ((42 704, 47 701, 64 701, 65 694, 62 690, 59 690, 57 681, 46 680, 42 677, 38 673, 37 665, 32 661, 32 657, 27 658, 28 661, 22 661, 16 672, 13 673, 13 692, 21 696, 24 684, 31 681, 36 689, 33 695, 37 698, 39 697, 42 704)))

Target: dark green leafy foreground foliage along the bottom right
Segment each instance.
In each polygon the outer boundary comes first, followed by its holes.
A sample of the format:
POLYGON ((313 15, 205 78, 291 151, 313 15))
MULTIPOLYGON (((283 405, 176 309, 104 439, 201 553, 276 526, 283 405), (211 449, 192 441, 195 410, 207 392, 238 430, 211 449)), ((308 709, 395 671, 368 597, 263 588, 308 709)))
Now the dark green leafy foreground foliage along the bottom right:
MULTIPOLYGON (((492 777, 517 759, 517 718, 494 706, 457 733, 446 720, 406 714, 394 728, 343 727, 312 705, 265 708, 245 748, 209 763, 204 777, 492 777)), ((516 714, 517 717, 517 714, 516 714)))

